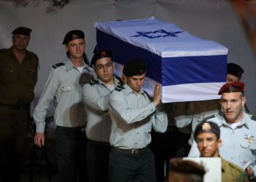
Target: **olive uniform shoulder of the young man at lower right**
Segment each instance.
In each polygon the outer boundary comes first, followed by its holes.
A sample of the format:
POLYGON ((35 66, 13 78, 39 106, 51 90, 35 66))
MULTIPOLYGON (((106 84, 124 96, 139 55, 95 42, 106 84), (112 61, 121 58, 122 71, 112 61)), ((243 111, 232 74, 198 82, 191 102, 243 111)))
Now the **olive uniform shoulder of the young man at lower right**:
POLYGON ((223 182, 246 182, 249 181, 245 170, 232 162, 222 159, 222 181, 223 182))

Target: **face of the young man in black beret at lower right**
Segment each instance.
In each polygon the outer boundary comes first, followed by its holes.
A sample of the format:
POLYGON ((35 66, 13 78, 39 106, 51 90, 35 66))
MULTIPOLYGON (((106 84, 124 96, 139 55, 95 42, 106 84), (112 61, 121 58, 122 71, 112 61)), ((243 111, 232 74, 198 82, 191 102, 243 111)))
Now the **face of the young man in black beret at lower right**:
POLYGON ((196 138, 197 148, 200 151, 200 157, 218 157, 219 146, 222 141, 212 132, 202 132, 196 138))

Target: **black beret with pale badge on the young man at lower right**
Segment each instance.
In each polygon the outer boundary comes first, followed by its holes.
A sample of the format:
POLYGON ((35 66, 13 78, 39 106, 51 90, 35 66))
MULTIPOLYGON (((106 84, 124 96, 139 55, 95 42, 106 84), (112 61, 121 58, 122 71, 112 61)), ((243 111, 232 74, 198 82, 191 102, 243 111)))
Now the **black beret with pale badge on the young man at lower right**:
POLYGON ((197 135, 203 132, 212 132, 215 135, 217 135, 217 138, 219 138, 220 130, 218 124, 214 122, 200 122, 200 124, 197 125, 194 132, 194 138, 196 140, 197 135))

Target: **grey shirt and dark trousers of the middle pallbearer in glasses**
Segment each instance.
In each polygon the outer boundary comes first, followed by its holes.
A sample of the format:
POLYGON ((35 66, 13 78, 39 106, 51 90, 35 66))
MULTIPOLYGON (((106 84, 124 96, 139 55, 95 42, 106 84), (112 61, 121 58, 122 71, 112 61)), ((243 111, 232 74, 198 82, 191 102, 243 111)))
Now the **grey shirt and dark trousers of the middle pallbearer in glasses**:
MULTIPOLYGON (((113 89, 121 87, 114 77, 113 89)), ((83 103, 86 106, 87 166, 89 181, 108 181, 108 159, 110 154, 111 119, 108 114, 110 90, 100 79, 92 79, 83 86, 83 103)))

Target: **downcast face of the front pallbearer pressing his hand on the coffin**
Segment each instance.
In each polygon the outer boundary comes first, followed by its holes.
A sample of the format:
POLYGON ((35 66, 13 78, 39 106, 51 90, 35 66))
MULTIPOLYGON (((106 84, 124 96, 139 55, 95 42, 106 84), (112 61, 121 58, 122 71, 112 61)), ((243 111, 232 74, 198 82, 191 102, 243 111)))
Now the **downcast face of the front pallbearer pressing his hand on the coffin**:
POLYGON ((140 76, 127 76, 127 84, 131 89, 135 92, 140 92, 141 87, 144 84, 146 73, 140 75, 140 76))

